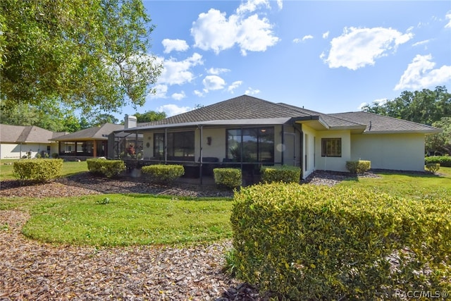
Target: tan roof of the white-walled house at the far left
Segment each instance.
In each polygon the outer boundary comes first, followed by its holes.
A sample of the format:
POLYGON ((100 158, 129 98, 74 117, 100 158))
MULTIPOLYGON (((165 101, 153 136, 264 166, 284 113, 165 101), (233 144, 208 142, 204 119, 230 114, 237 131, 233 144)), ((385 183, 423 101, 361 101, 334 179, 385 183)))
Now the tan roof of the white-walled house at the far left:
POLYGON ((54 132, 35 125, 0 126, 0 142, 9 143, 51 143, 54 132))

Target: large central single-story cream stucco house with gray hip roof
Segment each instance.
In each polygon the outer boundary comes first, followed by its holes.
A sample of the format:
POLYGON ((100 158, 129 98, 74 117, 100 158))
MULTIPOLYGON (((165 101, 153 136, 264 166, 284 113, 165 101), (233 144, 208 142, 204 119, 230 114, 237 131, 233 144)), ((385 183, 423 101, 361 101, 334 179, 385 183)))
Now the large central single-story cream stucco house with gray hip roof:
MULTIPOLYGON (((375 113, 319 113, 242 95, 161 121, 128 125, 110 136, 111 159, 126 147, 142 147, 134 159, 216 164, 258 171, 264 165, 347 171, 346 161, 369 160, 372 168, 424 171, 424 137, 438 128, 375 113)), ((202 175, 202 169, 198 168, 202 175)))

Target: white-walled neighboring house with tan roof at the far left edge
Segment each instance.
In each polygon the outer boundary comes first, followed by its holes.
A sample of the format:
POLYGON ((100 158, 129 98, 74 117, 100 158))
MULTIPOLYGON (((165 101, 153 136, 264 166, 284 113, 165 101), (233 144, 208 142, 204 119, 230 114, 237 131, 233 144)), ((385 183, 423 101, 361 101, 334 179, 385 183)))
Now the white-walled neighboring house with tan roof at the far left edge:
POLYGON ((35 158, 58 152, 58 144, 53 137, 64 133, 54 133, 35 125, 0 125, 0 159, 35 158))

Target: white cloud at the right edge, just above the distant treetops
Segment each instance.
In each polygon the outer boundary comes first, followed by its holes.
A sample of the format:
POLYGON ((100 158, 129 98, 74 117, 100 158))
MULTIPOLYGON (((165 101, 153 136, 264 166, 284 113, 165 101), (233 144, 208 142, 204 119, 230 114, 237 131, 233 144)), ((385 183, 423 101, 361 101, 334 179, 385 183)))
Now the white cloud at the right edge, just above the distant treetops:
POLYGON ((402 74, 395 90, 426 89, 451 80, 451 66, 443 65, 438 69, 434 69, 434 67, 435 63, 432 61, 431 54, 426 56, 417 54, 402 74))

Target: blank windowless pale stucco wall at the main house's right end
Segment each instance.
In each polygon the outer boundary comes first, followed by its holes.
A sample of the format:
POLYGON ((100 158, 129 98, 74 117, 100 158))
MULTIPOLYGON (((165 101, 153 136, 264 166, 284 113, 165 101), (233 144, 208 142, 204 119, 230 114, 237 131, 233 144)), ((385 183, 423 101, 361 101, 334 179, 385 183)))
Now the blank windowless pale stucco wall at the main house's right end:
POLYGON ((369 160, 371 168, 424 171, 424 135, 352 135, 352 160, 369 160))

